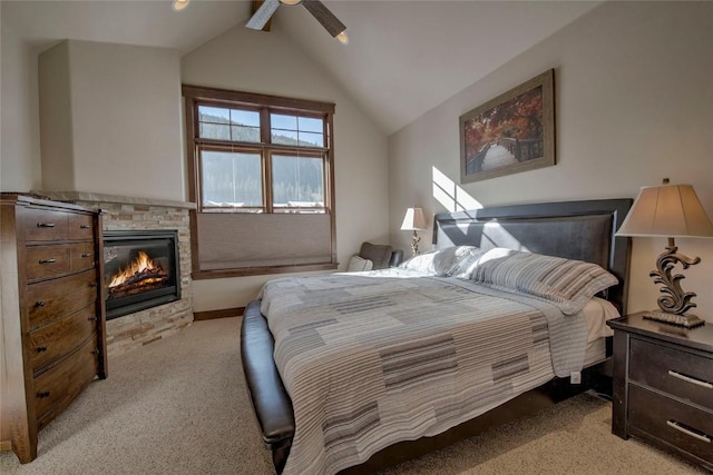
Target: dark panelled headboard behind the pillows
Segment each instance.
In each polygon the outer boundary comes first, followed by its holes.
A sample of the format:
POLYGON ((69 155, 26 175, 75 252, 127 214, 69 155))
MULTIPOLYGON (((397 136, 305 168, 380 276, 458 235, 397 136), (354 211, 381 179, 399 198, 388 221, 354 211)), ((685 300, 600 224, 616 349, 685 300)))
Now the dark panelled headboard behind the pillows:
POLYGON ((624 315, 631 238, 614 234, 632 202, 628 198, 560 201, 438 214, 433 244, 506 247, 598 264, 619 279, 606 298, 624 315))

